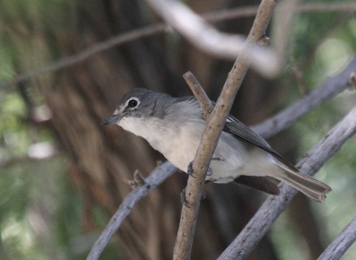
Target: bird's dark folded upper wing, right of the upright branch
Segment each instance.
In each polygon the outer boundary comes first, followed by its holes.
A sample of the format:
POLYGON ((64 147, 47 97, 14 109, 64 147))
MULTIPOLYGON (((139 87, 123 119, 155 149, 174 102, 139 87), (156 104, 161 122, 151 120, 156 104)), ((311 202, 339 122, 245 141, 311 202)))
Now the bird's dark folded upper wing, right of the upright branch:
POLYGON ((232 115, 229 115, 227 117, 223 131, 230 133, 237 138, 240 138, 242 140, 245 140, 248 143, 251 143, 251 145, 256 146, 257 148, 260 148, 260 149, 268 152, 275 159, 277 159, 278 163, 281 163, 282 165, 286 166, 287 168, 289 168, 292 171, 299 172, 299 170, 297 168, 295 168, 293 164, 288 162, 281 155, 279 155, 279 153, 274 151, 271 148, 271 146, 269 146, 269 144, 261 136, 257 135, 255 132, 253 132, 244 123, 241 123, 239 120, 232 117, 232 115))

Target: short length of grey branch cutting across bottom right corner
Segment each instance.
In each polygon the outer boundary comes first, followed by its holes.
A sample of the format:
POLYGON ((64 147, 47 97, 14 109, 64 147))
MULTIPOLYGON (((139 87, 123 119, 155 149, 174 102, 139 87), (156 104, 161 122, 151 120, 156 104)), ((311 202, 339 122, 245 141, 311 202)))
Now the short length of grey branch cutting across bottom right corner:
POLYGON ((334 241, 325 249, 317 260, 338 260, 356 241, 356 216, 342 229, 334 241))

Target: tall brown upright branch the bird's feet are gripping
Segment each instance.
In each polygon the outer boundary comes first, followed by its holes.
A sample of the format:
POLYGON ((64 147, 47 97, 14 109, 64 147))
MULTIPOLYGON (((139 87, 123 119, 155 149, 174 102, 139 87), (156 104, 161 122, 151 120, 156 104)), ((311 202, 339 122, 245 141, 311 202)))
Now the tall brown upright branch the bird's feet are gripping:
MULTIPOLYGON (((260 39, 264 38, 268 22, 271 19, 276 4, 277 1, 274 0, 262 0, 255 22, 253 23, 243 49, 248 49, 250 46, 256 45, 260 39)), ((185 190, 185 197, 189 207, 183 206, 180 215, 180 224, 173 254, 174 260, 190 258, 206 172, 221 131, 223 130, 227 115, 230 112, 236 93, 241 86, 241 82, 249 66, 250 60, 248 57, 240 54, 227 77, 215 108, 211 112, 211 116, 206 120, 205 129, 192 164, 196 178, 192 178, 191 176, 188 178, 187 188, 185 190)))

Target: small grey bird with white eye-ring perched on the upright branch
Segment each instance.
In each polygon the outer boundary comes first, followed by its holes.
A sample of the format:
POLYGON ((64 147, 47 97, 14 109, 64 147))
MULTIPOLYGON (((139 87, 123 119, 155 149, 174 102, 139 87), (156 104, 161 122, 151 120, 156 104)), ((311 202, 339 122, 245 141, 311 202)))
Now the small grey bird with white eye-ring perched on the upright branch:
MULTIPOLYGON (((114 113, 101 124, 116 124, 143 137, 174 166, 191 174, 188 167, 197 152, 205 120, 194 96, 174 98, 146 88, 134 88, 122 96, 114 113)), ((300 173, 261 136, 228 115, 205 183, 232 182, 278 195, 279 188, 269 177, 318 202, 324 201, 331 191, 325 183, 300 173)))

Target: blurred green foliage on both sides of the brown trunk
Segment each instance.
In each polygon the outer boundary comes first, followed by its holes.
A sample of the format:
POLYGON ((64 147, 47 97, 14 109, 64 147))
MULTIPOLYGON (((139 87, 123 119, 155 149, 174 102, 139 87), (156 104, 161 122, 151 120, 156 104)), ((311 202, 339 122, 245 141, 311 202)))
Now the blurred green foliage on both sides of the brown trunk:
MULTIPOLYGON (((76 5, 79 2, 66 0, 2 0, 0 79, 10 78, 19 69, 37 69, 59 58, 55 42, 43 46, 30 32, 16 27, 16 19, 27 20, 48 34, 51 27, 59 24, 75 31, 76 5), (12 37, 21 40, 28 37, 23 45, 39 44, 41 48, 35 55, 31 52, 33 46, 15 49, 10 44, 9 38, 12 37), (23 60, 26 60, 25 64, 23 60)), ((302 70, 305 85, 311 91, 340 71, 355 54, 356 19, 337 12, 313 12, 299 14, 295 25, 289 65, 302 70)), ((290 71, 285 71, 277 84, 286 81, 292 82, 287 89, 289 100, 283 101, 288 105, 300 94, 290 71)), ((41 97, 31 89, 28 91, 35 105, 41 105, 41 97)), ((298 121, 293 127, 300 144, 299 155, 317 143, 355 101, 355 92, 345 91, 298 121)), ((71 186, 67 174, 69 159, 58 151, 45 159, 27 156, 29 147, 38 142, 58 146, 48 127, 31 123, 30 113, 17 89, 0 90, 0 231, 5 251, 9 259, 84 259, 97 233, 85 230, 85 203, 71 186)), ((320 235, 325 245, 356 212, 355 141, 355 137, 347 141, 317 174, 318 179, 333 188, 333 194, 323 204, 310 202, 315 214, 323 216, 320 224, 324 233, 320 235)), ((303 238, 290 227, 286 214, 278 218, 271 231, 277 253, 280 259, 308 259, 303 238)), ((93 210, 92 219, 98 227, 107 222, 99 207, 93 210)), ((112 243, 101 259, 117 259, 118 252, 112 243)), ((354 245, 342 259, 352 260, 355 255, 354 245)))

